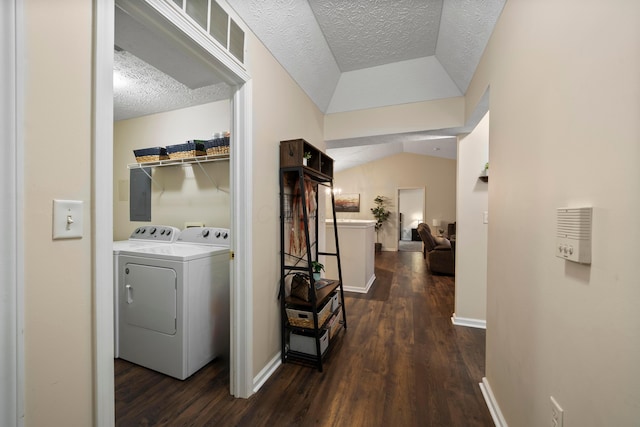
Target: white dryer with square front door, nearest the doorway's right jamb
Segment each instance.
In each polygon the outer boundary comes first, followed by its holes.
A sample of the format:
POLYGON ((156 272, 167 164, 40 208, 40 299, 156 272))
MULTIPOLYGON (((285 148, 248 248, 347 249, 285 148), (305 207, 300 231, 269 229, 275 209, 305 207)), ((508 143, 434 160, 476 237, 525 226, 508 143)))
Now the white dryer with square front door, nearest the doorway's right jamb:
POLYGON ((187 228, 171 245, 121 250, 119 356, 184 380, 229 352, 229 230, 187 228))

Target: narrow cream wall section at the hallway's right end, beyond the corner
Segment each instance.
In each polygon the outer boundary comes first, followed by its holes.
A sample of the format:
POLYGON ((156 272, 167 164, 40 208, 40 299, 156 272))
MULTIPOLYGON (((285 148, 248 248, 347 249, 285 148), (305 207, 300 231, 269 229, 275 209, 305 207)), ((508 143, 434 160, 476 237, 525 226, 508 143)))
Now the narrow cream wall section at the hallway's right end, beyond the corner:
POLYGON ((455 317, 484 323, 487 306, 489 183, 478 179, 489 161, 489 113, 458 139, 455 317))

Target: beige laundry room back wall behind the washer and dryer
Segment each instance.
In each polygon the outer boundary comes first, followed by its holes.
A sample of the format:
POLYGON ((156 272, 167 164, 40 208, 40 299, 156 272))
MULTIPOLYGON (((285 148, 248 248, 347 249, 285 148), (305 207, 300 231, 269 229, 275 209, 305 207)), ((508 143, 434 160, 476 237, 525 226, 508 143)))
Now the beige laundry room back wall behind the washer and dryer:
POLYGON ((113 232, 125 240, 144 224, 184 228, 186 221, 206 226, 230 226, 229 162, 154 168, 151 222, 129 221, 129 169, 137 148, 182 144, 210 139, 214 132, 231 128, 231 105, 219 101, 114 123, 113 131, 113 232), (203 171, 204 169, 204 171, 203 171))

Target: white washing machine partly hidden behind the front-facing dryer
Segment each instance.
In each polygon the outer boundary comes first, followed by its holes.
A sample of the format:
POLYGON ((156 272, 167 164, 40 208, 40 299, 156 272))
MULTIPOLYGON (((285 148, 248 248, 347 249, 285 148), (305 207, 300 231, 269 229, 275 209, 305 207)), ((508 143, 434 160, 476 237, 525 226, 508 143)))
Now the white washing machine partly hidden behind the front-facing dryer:
POLYGON ((150 248, 152 246, 173 243, 180 235, 180 229, 168 225, 145 225, 138 227, 129 236, 128 240, 113 242, 113 349, 114 357, 119 357, 118 346, 118 271, 120 252, 135 252, 140 248, 150 248))

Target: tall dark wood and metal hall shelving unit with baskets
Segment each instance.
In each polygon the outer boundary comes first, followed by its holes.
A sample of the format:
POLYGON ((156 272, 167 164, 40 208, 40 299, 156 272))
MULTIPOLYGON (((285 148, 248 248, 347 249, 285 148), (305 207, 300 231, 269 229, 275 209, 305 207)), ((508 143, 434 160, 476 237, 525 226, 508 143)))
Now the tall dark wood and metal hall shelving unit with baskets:
POLYGON ((333 195, 333 159, 303 139, 280 142, 280 307, 282 362, 317 367, 329 353, 340 331, 347 329, 338 229, 334 228, 336 251, 318 248, 318 195, 321 188, 331 194, 331 211, 336 219, 333 195), (307 164, 304 164, 307 153, 307 164), (290 282, 303 274, 310 289, 316 288, 312 262, 319 256, 333 256, 338 277, 309 292, 309 300, 290 295, 290 282), (299 317, 296 317, 299 316, 299 317))

